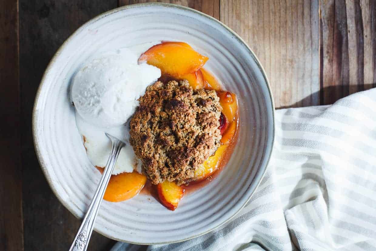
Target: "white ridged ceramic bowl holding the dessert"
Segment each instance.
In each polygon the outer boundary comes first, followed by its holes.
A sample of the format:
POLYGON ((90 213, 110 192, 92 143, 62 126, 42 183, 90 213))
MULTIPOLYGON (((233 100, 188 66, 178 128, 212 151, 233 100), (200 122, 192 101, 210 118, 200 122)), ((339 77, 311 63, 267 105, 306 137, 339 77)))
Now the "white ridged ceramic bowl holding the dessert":
POLYGON ((209 57, 205 67, 226 90, 238 95, 240 134, 224 170, 207 186, 186 195, 175 211, 147 195, 118 203, 103 201, 95 230, 130 243, 180 242, 229 221, 261 181, 273 146, 270 87, 258 59, 237 34, 208 15, 177 5, 117 8, 88 21, 65 41, 36 94, 36 154, 53 192, 71 213, 83 217, 100 180, 86 157, 69 103, 72 76, 99 50, 160 40, 184 41, 209 57))

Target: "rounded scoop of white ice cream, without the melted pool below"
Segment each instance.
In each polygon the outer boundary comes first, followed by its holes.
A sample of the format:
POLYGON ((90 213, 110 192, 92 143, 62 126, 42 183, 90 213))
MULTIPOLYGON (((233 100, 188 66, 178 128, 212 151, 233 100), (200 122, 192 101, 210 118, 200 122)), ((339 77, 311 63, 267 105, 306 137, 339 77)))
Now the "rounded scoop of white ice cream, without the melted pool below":
POLYGON ((129 49, 89 60, 74 76, 71 99, 80 116, 92 125, 124 124, 134 113, 140 95, 161 76, 161 70, 137 64, 129 49))

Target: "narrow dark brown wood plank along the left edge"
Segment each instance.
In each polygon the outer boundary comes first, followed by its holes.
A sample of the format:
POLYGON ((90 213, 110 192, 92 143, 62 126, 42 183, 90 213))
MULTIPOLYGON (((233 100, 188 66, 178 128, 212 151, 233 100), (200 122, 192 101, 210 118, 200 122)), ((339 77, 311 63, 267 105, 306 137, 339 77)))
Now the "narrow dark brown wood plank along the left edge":
POLYGON ((0 1, 0 249, 23 250, 18 2, 0 1))

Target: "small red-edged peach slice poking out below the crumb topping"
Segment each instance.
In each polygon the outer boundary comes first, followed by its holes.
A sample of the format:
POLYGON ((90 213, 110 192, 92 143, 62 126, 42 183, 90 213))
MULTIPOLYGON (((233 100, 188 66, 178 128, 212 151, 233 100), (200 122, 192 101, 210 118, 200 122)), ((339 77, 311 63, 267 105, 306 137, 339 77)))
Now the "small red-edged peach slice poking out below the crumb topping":
POLYGON ((174 182, 164 181, 157 185, 158 197, 161 203, 174 211, 184 196, 185 190, 174 182))

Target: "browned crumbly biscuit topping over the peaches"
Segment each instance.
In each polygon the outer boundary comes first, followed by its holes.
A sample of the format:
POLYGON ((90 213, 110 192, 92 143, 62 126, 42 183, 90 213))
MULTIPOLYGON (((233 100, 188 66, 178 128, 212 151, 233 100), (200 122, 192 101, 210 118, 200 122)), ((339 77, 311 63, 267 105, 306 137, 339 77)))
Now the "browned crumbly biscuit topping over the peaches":
POLYGON ((194 177, 220 145, 221 110, 214 90, 193 91, 186 80, 147 87, 130 121, 130 145, 153 184, 194 177))

